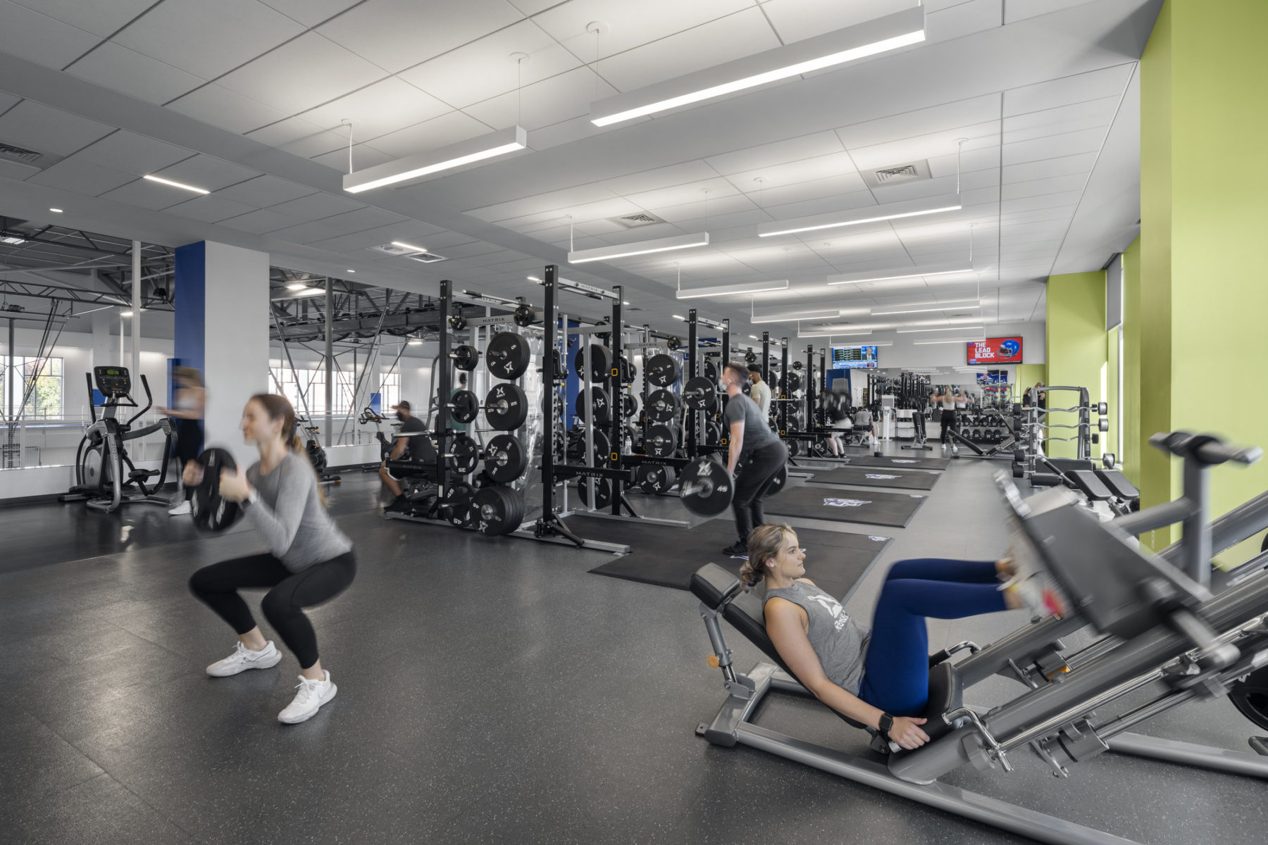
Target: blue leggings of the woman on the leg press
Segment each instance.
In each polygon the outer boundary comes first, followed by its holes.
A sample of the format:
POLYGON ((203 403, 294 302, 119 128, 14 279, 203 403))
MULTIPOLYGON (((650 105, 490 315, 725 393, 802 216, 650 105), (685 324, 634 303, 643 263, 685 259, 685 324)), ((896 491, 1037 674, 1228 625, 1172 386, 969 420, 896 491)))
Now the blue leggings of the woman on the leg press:
POLYGON ((876 600, 858 697, 893 716, 918 716, 929 698, 924 619, 959 619, 1008 609, 995 561, 900 560, 876 600))

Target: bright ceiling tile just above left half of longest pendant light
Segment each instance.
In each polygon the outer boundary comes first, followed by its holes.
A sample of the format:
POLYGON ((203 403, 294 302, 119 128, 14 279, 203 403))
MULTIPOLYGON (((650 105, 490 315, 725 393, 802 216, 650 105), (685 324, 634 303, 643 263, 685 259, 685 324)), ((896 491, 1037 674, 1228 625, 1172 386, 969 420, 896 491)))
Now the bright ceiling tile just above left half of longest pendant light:
POLYGON ((633 91, 779 46, 762 10, 753 6, 601 60, 598 75, 620 91, 633 91))

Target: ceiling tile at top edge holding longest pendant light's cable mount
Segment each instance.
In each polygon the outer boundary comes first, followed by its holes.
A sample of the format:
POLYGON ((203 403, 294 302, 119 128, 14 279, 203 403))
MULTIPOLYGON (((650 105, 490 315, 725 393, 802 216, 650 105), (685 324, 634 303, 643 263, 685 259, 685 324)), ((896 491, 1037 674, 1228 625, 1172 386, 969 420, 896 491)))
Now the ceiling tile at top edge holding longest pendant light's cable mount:
MULTIPOLYGON (((601 20, 609 32, 597 38, 598 56, 606 57, 640 44, 699 27, 724 15, 752 9, 752 0, 572 0, 534 15, 533 23, 571 49, 582 61, 595 60, 596 38, 586 24, 601 20)), ((719 62, 710 62, 716 65, 719 62)))

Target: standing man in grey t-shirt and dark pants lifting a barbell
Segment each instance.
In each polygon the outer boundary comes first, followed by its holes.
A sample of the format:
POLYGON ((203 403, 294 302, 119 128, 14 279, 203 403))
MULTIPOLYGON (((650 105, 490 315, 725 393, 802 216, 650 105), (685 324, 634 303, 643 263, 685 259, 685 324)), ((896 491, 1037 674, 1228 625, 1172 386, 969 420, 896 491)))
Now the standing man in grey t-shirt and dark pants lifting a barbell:
POLYGON ((735 493, 730 500, 738 540, 735 545, 723 550, 728 555, 748 554, 749 532, 766 522, 762 499, 789 460, 787 447, 766 424, 757 403, 735 399, 746 381, 748 367, 743 364, 728 362, 723 369, 721 384, 730 398, 723 413, 724 431, 730 438, 727 470, 734 475, 735 466, 741 461, 744 464, 744 471, 735 479, 735 493))

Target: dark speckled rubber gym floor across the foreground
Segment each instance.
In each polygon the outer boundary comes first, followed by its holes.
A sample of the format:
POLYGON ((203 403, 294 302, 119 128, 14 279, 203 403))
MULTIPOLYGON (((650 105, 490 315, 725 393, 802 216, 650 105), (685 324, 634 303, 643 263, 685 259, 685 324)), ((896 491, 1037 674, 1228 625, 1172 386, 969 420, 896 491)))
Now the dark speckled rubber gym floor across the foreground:
MULTIPOLYGON (((909 528, 884 532, 894 541, 847 604, 861 623, 895 560, 1003 554, 993 469, 957 461, 909 528)), ((260 550, 254 532, 166 541, 133 528, 123 551, 49 554, 0 573, 0 841, 1027 841, 756 749, 708 745, 695 726, 725 693, 705 664, 694 595, 588 575, 612 560, 604 552, 353 509, 377 504, 377 488, 373 474, 345 475, 331 490, 333 507, 350 509, 339 522, 359 573, 311 613, 340 689, 298 726, 276 722, 294 693, 293 656, 236 678, 203 670, 233 636, 185 581, 260 550)), ((0 560, 22 542, 99 528, 104 516, 42 507, 47 518, 0 508, 0 560)), ((813 565, 818 546, 806 545, 813 565)), ((252 608, 259 597, 246 593, 252 608)), ((1022 613, 931 619, 929 646, 990 642, 1025 623, 1022 613)), ((738 669, 763 659, 724 630, 738 669)), ((966 703, 990 707, 1017 689, 993 678, 966 703)), ((758 722, 866 747, 814 701, 780 696, 758 722)), ((1238 750, 1255 732, 1224 699, 1145 727, 1238 750)), ((1150 845, 1257 842, 1268 830, 1262 780, 1113 754, 1058 779, 1032 755, 1009 759, 1011 774, 966 765, 945 782, 1150 845)))

